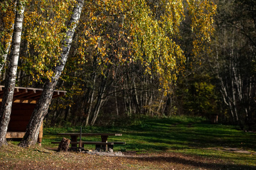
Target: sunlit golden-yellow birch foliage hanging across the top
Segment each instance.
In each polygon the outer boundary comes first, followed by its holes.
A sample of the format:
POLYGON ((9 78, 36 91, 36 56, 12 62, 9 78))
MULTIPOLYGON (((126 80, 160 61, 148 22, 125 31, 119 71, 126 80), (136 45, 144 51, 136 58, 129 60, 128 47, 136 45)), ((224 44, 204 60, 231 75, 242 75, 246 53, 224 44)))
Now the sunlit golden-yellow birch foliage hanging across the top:
MULTIPOLYGON (((34 80, 51 79, 76 1, 30 0, 27 3, 23 40, 27 41, 29 56, 23 58, 34 80)), ((166 94, 171 91, 185 61, 180 44, 184 10, 191 18, 195 57, 200 56, 214 30, 216 6, 210 0, 89 0, 84 3, 73 42, 76 49, 72 59, 77 62, 72 63, 81 66, 90 58, 96 58, 98 69, 103 70, 108 65, 141 62, 146 74, 158 75, 159 89, 166 94)), ((13 10, 10 6, 6 11, 9 14, 5 17, 9 23, 7 30, 13 22, 13 10)), ((5 33, 1 41, 9 40, 7 35, 5 33)))

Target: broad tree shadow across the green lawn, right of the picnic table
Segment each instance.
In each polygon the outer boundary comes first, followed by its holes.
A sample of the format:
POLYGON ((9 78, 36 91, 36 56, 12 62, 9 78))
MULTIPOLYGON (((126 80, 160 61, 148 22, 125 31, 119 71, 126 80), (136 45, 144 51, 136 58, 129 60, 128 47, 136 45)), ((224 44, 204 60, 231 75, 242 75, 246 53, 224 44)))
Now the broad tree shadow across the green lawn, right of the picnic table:
MULTIPOLYGON (((170 119, 144 122, 131 127, 127 135, 147 143, 165 143, 169 147, 239 147, 256 152, 255 134, 232 129, 232 126, 212 125, 206 121, 171 121, 170 119)), ((138 144, 139 145, 139 144, 138 144)))

